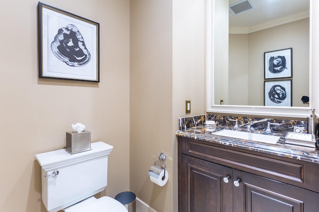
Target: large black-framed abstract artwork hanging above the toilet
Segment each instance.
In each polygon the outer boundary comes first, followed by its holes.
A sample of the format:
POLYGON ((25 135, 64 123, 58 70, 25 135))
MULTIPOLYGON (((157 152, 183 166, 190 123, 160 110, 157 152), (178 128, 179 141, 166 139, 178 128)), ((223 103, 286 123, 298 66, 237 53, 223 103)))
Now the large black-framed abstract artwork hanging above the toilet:
POLYGON ((100 81, 99 23, 38 3, 39 78, 100 81))

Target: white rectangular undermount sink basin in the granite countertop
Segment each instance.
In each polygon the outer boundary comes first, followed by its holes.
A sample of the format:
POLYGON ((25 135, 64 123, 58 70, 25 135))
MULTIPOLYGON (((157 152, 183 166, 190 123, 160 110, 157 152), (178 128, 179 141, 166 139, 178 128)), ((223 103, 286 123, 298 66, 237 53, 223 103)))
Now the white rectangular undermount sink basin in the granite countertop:
POLYGON ((216 133, 213 133, 213 135, 226 136, 226 137, 231 137, 235 139, 259 141, 264 143, 273 143, 273 144, 277 143, 277 141, 280 139, 280 136, 270 136, 270 135, 264 135, 264 134, 247 133, 247 132, 233 131, 233 130, 221 130, 216 133))

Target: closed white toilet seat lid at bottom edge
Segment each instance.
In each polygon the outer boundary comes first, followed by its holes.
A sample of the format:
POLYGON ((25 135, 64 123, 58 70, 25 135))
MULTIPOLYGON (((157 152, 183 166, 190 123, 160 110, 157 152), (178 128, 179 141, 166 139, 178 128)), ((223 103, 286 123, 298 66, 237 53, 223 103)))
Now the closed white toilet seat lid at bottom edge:
POLYGON ((88 198, 64 209, 65 212, 128 212, 124 205, 111 197, 88 198))

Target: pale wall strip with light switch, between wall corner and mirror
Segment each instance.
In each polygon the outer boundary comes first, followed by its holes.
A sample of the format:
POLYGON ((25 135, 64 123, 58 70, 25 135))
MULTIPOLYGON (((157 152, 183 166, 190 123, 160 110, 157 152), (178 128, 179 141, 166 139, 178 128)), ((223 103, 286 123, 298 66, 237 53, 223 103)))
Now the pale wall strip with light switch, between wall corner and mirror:
POLYGON ((206 113, 206 3, 207 0, 173 0, 173 212, 177 212, 178 203, 177 120, 206 113), (191 101, 190 114, 185 114, 185 100, 191 101))

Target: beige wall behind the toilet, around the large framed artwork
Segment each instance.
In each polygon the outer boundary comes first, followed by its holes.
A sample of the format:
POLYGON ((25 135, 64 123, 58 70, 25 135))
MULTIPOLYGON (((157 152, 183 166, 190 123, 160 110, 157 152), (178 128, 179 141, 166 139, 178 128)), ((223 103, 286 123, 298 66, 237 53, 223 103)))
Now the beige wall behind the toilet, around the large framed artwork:
POLYGON ((46 211, 34 155, 63 148, 76 122, 114 145, 104 193, 130 189, 129 0, 43 0, 100 23, 100 83, 38 79, 37 3, 1 1, 1 212, 46 211))

